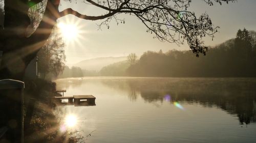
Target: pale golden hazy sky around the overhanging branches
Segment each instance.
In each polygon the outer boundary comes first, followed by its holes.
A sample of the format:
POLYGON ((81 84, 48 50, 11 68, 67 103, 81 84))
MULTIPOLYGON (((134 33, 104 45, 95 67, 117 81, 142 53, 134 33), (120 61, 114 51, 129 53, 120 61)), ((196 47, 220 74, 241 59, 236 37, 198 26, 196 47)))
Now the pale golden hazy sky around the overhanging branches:
MULTIPOLYGON (((77 0, 77 4, 62 2, 60 9, 71 7, 80 13, 93 15, 100 13, 96 7, 91 7, 77 0)), ((214 41, 211 38, 205 39, 205 45, 217 45, 230 38, 234 38, 239 28, 247 28, 256 31, 256 1, 255 0, 238 0, 237 3, 223 4, 220 6, 215 3, 214 6, 208 6, 203 1, 194 0, 189 8, 196 14, 207 12, 212 22, 220 26, 219 33, 215 36, 214 41)), ((135 52, 141 55, 147 50, 164 52, 171 49, 189 49, 187 45, 160 42, 153 39, 153 35, 146 33, 146 28, 134 16, 120 15, 120 19, 125 19, 125 24, 117 26, 112 22, 110 29, 102 27, 98 30, 96 23, 100 21, 89 21, 68 15, 59 21, 77 23, 80 34, 78 40, 66 42, 67 64, 77 63, 82 60, 92 59, 102 56, 126 56, 135 52)))

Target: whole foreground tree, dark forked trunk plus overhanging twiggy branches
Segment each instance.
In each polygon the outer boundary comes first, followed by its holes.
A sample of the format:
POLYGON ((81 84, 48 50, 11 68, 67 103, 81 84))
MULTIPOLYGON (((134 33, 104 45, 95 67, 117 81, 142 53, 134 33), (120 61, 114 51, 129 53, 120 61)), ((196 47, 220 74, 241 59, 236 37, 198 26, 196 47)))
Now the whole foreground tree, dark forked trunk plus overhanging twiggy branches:
MULTIPOLYGON (((71 2, 71 0, 69 0, 71 2)), ((214 2, 234 2, 235 0, 203 0, 207 5, 214 2)), ((104 19, 99 26, 118 19, 118 14, 136 16, 146 26, 147 32, 155 34, 154 38, 160 41, 183 44, 187 41, 191 51, 199 56, 205 54, 207 47, 203 46, 202 37, 214 37, 218 26, 214 26, 206 13, 197 17, 194 12, 187 11, 191 0, 106 0, 84 3, 105 10, 100 15, 81 14, 71 8, 59 11, 59 0, 5 0, 4 1, 4 28, 0 29, 0 50, 3 51, 0 67, 0 79, 13 78, 22 80, 24 71, 39 49, 44 46, 51 34, 56 20, 68 14, 87 20, 104 19), (42 11, 41 21, 32 22, 28 12, 35 6, 42 11)))

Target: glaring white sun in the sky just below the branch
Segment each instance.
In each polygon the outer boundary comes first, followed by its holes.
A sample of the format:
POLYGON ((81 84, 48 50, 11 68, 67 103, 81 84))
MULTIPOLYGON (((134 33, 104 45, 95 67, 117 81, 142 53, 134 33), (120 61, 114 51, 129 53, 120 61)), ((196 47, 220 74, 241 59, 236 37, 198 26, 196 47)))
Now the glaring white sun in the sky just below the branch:
POLYGON ((62 36, 66 40, 74 40, 78 36, 78 29, 75 24, 65 24, 65 23, 58 23, 58 27, 62 36))

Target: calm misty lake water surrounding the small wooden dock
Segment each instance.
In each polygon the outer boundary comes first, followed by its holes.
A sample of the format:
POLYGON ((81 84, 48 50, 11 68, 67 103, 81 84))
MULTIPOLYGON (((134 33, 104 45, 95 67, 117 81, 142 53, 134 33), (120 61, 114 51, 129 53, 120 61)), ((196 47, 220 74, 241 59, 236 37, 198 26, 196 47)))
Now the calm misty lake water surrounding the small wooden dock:
POLYGON ((96 97, 96 106, 61 108, 77 116, 74 129, 80 134, 94 131, 86 142, 256 142, 256 78, 84 77, 56 82, 66 96, 96 97))

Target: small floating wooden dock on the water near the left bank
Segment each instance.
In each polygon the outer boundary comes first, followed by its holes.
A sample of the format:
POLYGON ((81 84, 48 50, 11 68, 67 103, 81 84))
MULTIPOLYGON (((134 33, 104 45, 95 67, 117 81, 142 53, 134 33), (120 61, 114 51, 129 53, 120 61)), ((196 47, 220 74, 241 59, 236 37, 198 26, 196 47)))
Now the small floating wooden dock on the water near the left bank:
POLYGON ((93 95, 74 95, 74 96, 62 96, 54 97, 58 105, 75 105, 75 106, 94 106, 95 97, 93 95), (68 102, 62 102, 68 99, 68 102))

